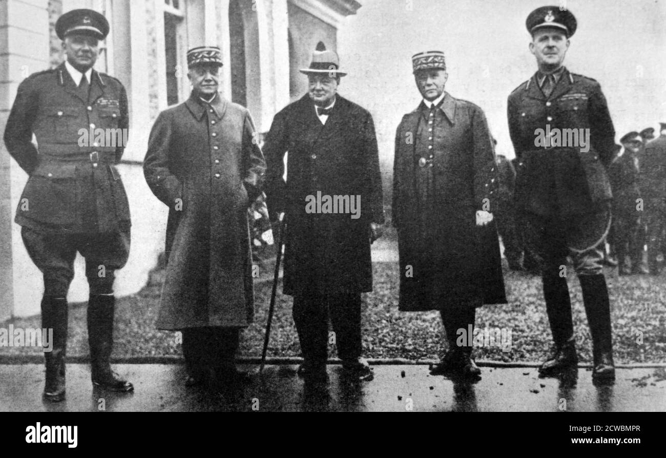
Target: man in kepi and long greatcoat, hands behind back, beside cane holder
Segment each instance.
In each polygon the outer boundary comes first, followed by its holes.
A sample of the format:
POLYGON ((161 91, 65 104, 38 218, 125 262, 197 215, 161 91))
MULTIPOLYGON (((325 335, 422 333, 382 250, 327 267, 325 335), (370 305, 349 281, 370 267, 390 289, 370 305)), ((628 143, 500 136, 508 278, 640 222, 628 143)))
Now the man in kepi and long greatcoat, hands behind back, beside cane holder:
POLYGON ((250 113, 218 93, 218 47, 187 53, 192 94, 155 120, 144 162, 169 207, 166 276, 157 328, 182 332, 186 385, 236 387, 239 332, 252 324, 248 207, 266 163, 250 113))

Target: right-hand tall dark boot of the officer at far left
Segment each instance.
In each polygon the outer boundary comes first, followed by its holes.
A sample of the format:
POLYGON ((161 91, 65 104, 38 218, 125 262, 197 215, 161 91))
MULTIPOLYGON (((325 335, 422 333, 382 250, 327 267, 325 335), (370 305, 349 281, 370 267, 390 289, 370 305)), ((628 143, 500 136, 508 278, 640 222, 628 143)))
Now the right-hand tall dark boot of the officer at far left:
POLYGON ((91 294, 88 302, 88 343, 90 345, 93 385, 111 391, 133 391, 129 381, 119 379, 111 370, 113 349, 113 308, 115 298, 91 294))

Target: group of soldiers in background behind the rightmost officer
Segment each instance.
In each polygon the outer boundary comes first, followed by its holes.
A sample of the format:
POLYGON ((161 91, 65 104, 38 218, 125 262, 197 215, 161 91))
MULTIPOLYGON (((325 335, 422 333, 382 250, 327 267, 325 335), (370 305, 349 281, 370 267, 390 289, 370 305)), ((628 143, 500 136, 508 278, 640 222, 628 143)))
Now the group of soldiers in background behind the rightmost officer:
MULTIPOLYGON (((629 132, 609 167, 613 187, 613 223, 604 263, 618 267, 619 275, 658 275, 666 257, 666 123, 660 136, 655 129, 629 132), (647 245, 647 262, 645 246, 647 245)), ((494 140, 497 145, 497 140, 494 140)), ((500 188, 498 232, 509 269, 539 274, 539 255, 529 246, 513 206, 517 159, 497 155, 500 188)))

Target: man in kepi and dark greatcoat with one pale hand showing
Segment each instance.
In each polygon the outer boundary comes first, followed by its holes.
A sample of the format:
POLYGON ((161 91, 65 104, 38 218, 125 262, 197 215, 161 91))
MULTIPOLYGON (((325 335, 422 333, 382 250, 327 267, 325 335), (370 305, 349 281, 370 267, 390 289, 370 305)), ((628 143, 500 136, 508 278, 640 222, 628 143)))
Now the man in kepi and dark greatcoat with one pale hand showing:
POLYGON ((419 53, 412 63, 423 100, 398 126, 393 172, 399 309, 440 311, 448 352, 432 375, 478 379, 468 338, 476 308, 506 302, 492 136, 480 107, 444 91, 444 53, 419 53))

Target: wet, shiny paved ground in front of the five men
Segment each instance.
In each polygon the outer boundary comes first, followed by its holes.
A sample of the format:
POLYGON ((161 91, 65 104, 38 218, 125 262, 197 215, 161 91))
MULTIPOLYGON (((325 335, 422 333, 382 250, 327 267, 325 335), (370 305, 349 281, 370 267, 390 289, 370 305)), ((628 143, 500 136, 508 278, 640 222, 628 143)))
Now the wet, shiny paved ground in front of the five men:
POLYGON ((51 404, 41 399, 43 365, 0 365, 0 411, 666 411, 663 367, 617 369, 610 387, 595 387, 583 368, 560 381, 539 379, 535 367, 482 367, 470 385, 433 377, 427 365, 373 367, 374 381, 353 385, 329 365, 327 394, 306 389, 296 365, 270 365, 242 392, 219 395, 184 387, 182 365, 120 364, 135 392, 119 395, 93 390, 88 365, 71 363, 67 401, 51 404))

